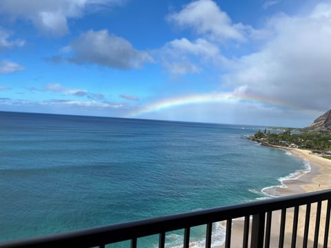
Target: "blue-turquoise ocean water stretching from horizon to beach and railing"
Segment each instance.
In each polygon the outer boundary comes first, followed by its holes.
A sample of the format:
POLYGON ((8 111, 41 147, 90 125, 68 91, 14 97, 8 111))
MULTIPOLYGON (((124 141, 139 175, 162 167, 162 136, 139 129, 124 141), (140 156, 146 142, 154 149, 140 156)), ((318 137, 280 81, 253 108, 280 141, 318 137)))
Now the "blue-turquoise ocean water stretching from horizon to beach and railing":
MULTIPOLYGON (((0 242, 269 197, 309 168, 248 140, 260 128, 0 112, 0 242)), ((182 238, 167 234, 168 247, 182 238)))

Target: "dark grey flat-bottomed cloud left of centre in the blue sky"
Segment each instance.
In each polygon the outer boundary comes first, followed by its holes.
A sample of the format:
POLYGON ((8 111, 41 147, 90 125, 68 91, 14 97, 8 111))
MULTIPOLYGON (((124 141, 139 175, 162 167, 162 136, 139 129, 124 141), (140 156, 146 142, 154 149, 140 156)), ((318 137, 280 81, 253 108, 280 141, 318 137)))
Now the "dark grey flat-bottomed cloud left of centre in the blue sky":
POLYGON ((109 34, 108 30, 90 30, 72 41, 69 50, 74 53, 68 61, 77 64, 97 64, 128 70, 141 68, 143 63, 154 60, 147 51, 132 48, 126 39, 109 34))

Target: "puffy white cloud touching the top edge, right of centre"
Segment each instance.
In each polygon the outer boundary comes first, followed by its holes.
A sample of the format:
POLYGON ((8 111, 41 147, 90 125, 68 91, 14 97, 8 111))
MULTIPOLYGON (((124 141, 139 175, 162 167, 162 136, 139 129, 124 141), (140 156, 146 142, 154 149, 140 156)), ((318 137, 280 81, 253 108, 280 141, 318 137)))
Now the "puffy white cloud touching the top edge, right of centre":
POLYGON ((181 11, 168 15, 167 19, 182 28, 192 28, 197 34, 206 35, 212 40, 245 39, 245 26, 242 23, 233 24, 228 14, 211 0, 188 3, 181 11))

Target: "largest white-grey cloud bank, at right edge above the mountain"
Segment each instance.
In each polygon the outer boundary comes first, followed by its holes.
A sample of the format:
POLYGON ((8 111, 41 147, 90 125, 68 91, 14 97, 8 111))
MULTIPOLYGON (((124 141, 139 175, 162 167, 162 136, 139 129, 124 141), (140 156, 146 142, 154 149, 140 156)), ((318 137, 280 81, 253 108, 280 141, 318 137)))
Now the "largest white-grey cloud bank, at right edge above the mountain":
POLYGON ((267 28, 272 39, 232 61, 226 85, 292 107, 330 109, 331 5, 319 4, 305 17, 274 17, 267 28))

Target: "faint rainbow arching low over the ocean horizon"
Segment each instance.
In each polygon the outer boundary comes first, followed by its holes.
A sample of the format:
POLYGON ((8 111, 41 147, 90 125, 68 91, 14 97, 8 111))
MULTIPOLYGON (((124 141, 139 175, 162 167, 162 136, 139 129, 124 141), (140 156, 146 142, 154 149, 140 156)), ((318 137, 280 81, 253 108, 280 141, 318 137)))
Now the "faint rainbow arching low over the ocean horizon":
POLYGON ((279 101, 272 101, 270 99, 263 99, 257 96, 243 96, 233 93, 219 93, 219 94, 195 94, 188 96, 180 96, 172 99, 163 99, 161 101, 154 102, 145 107, 139 108, 130 112, 125 117, 132 118, 140 116, 141 114, 146 114, 150 112, 157 112, 159 110, 164 110, 170 107, 188 105, 188 104, 197 104, 197 103, 231 103, 231 102, 250 102, 250 103, 264 103, 268 105, 274 105, 278 107, 285 107, 290 109, 298 109, 297 107, 285 105, 279 101))

